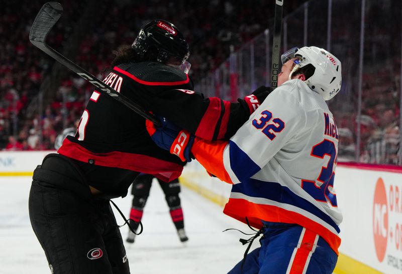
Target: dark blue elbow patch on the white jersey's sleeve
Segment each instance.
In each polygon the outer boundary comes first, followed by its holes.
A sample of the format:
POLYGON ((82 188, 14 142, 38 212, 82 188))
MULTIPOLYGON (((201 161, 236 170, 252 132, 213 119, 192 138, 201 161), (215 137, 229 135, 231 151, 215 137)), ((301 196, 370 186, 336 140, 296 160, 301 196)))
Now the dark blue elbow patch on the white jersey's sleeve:
POLYGON ((229 155, 230 168, 241 182, 247 180, 261 169, 233 141, 229 141, 229 155))

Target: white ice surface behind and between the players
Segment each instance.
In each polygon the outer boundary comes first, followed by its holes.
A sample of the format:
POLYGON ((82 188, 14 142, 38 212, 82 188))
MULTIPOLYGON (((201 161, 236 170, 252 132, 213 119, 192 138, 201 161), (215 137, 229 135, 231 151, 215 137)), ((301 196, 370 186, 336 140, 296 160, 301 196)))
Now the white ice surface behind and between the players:
MULTIPOLYGON (((50 273, 45 254, 37 241, 28 216, 30 177, 0 177, 0 273, 50 273)), ((185 230, 189 237, 183 245, 176 234, 162 190, 157 182, 151 188, 142 219, 144 232, 134 244, 126 243, 131 273, 191 274, 227 273, 243 257, 246 246, 238 231, 252 231, 222 213, 221 206, 192 190, 180 193, 185 230)), ((128 216, 132 196, 114 199, 128 216)), ((124 221, 115 211, 119 224, 124 221)), ((121 228, 123 238, 128 228, 121 228)), ((250 250, 259 245, 254 241, 250 250)))

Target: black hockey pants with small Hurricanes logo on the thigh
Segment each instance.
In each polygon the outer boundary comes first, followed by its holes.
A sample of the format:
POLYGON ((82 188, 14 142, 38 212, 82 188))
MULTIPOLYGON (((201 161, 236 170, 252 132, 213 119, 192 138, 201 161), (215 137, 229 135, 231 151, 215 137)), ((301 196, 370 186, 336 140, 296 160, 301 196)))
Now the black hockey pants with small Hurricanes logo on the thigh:
POLYGON ((109 200, 91 195, 68 158, 50 154, 35 170, 29 215, 52 273, 130 273, 109 200))

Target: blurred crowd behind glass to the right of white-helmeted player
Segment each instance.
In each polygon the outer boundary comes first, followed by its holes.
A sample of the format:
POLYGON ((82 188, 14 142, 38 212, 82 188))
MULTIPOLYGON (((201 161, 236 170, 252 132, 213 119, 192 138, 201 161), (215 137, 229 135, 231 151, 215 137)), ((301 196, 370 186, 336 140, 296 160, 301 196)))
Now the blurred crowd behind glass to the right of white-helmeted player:
MULTIPOLYGON (((350 7, 352 13, 357 14, 360 5, 355 2, 354 5, 350 5, 353 6, 350 7)), ((357 37, 360 35, 360 20, 357 21, 359 19, 357 16, 342 18, 342 15, 338 14, 341 22, 352 22, 350 25, 341 25, 343 30, 337 33, 342 38, 340 40, 342 44, 350 45, 345 47, 347 52, 342 60, 346 96, 336 98, 340 100, 336 102, 337 108, 333 108, 340 135, 339 161, 402 164, 398 158, 401 138, 399 107, 402 92, 402 45, 399 20, 401 8, 402 2, 399 1, 366 1, 360 117, 356 115, 359 87, 358 77, 356 77, 359 72, 357 57, 360 46, 360 39, 357 37), (392 28, 387 28, 386 25, 392 28), (345 65, 348 68, 345 68, 345 65), (350 99, 347 98, 348 92, 350 99), (345 108, 342 103, 348 107, 345 108), (360 127, 358 127, 359 124, 360 127), (357 140, 358 134, 359 140, 357 140), (357 150, 360 152, 359 155, 356 155, 357 150)))

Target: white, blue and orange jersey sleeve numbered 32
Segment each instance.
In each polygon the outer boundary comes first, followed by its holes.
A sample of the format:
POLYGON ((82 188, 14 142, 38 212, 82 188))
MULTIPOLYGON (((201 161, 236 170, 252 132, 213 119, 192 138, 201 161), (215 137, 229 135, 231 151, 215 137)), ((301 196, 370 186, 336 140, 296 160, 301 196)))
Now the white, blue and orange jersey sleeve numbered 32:
POLYGON ((208 172, 239 183, 252 177, 306 124, 291 91, 277 88, 228 142, 196 139, 191 149, 208 172))

